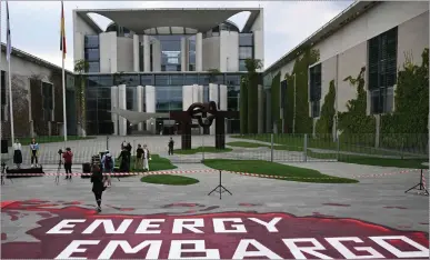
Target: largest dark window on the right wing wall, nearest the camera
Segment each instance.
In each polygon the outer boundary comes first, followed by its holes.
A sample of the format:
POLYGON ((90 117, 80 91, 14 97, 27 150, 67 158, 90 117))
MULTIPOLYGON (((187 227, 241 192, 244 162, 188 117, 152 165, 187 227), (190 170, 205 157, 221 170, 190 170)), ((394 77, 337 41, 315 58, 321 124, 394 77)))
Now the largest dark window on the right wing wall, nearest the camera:
POLYGON ((368 42, 369 92, 371 113, 392 111, 393 86, 397 81, 397 28, 368 42))

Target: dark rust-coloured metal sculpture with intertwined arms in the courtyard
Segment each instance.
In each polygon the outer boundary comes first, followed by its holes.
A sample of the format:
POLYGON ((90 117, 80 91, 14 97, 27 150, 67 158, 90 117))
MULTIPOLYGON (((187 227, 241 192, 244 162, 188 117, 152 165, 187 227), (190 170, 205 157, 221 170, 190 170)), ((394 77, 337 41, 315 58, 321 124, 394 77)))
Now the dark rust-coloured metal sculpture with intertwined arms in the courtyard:
POLYGON ((226 119, 239 118, 239 112, 236 111, 219 111, 217 103, 210 101, 208 103, 193 103, 187 111, 170 112, 170 118, 181 122, 181 139, 182 150, 191 149, 191 126, 192 119, 197 119, 199 126, 203 130, 209 129, 213 120, 216 120, 216 148, 226 148, 226 119))

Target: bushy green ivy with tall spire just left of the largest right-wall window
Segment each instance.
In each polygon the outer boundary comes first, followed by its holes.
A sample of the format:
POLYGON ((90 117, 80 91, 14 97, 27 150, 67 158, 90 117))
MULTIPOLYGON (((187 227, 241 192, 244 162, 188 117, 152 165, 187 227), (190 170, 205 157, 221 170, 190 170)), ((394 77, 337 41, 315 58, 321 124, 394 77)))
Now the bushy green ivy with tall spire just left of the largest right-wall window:
POLYGON ((364 90, 366 67, 356 79, 351 76, 343 81, 357 88, 357 98, 347 102, 347 112, 339 112, 340 140, 354 144, 374 146, 376 119, 367 116, 367 92, 364 90))

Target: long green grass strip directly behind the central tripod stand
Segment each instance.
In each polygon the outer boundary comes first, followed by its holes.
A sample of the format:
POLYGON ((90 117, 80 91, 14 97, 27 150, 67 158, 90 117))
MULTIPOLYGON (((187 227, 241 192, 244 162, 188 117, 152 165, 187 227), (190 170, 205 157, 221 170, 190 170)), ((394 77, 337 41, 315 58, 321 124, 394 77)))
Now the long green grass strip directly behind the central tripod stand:
POLYGON ((357 180, 352 180, 352 179, 322 174, 321 172, 312 169, 284 166, 284 164, 270 162, 270 161, 208 159, 208 160, 204 160, 203 163, 204 166, 217 170, 289 177, 283 179, 289 181, 318 182, 318 183, 357 183, 358 182, 357 180), (333 179, 304 179, 304 178, 333 178, 333 179))

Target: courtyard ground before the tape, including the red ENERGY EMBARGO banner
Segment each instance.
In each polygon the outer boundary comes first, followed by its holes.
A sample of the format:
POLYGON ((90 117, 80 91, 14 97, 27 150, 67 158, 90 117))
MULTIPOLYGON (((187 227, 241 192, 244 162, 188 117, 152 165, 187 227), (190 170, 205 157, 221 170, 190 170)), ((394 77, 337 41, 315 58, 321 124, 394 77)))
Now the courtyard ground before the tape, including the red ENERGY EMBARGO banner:
POLYGON ((319 184, 223 173, 232 196, 223 193, 220 200, 216 193, 208 196, 218 184, 217 172, 181 163, 178 170, 196 170, 184 176, 199 183, 170 187, 142 183, 139 177, 113 179, 97 214, 88 179, 61 178, 58 186, 54 177, 7 180, 1 190, 1 257, 429 256, 429 198, 404 193, 418 183, 419 172, 338 162, 290 164, 360 182, 319 184))

